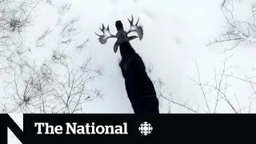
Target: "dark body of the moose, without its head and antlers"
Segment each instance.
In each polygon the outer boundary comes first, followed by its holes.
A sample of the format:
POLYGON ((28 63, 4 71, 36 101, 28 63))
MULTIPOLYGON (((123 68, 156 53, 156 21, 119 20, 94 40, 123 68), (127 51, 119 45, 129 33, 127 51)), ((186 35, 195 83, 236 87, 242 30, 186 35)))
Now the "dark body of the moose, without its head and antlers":
POLYGON ((122 60, 119 66, 125 78, 126 92, 135 114, 158 114, 158 98, 153 82, 146 74, 142 58, 130 46, 129 42, 119 45, 122 60), (127 51, 130 50, 129 53, 127 51), (127 54, 127 55, 126 55, 127 54))

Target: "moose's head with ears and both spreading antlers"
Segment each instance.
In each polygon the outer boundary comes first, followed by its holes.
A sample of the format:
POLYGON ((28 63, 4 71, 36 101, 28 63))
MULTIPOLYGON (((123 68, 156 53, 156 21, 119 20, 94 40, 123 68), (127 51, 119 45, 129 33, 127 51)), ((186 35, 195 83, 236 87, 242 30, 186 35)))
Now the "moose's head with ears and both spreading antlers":
POLYGON ((143 38, 143 29, 142 26, 138 26, 138 21, 136 22, 136 24, 134 25, 134 17, 133 15, 131 15, 131 20, 128 18, 128 21, 130 22, 130 30, 128 30, 127 32, 125 30, 123 30, 123 26, 122 26, 122 22, 121 21, 117 21, 115 22, 115 26, 118 30, 118 33, 113 35, 110 33, 110 27, 107 26, 105 27, 102 24, 102 28, 99 28, 102 31, 102 35, 95 33, 96 35, 98 35, 98 40, 99 42, 103 45, 107 42, 108 38, 118 38, 118 40, 115 42, 114 44, 114 53, 116 53, 118 51, 118 46, 119 44, 121 44, 122 42, 129 42, 130 40, 133 40, 135 38, 139 38, 139 40, 142 40, 143 38), (128 34, 130 34, 131 32, 137 32, 138 36, 128 36, 128 34))

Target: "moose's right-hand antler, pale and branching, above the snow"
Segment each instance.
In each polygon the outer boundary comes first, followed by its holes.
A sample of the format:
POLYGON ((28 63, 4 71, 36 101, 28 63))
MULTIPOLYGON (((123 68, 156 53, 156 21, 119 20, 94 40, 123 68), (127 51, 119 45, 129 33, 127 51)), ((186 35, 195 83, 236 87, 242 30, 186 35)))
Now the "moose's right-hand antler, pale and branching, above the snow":
POLYGON ((136 31, 138 34, 139 40, 142 40, 144 33, 143 33, 142 26, 138 26, 139 18, 135 25, 134 25, 134 16, 132 14, 131 14, 131 20, 129 18, 127 19, 130 22, 130 30, 127 31, 127 34, 130 34, 130 32, 136 31))

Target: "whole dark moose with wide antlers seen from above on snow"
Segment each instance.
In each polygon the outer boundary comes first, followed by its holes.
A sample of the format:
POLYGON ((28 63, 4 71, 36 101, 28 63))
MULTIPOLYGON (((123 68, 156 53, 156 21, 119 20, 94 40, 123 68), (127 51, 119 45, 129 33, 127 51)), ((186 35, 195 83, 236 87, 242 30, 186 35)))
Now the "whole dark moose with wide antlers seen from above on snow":
POLYGON ((114 44, 114 53, 117 52, 118 47, 122 60, 119 62, 119 66, 122 70, 122 76, 125 79, 126 93, 130 99, 131 105, 135 114, 159 114, 159 102, 156 91, 154 90, 153 82, 146 74, 146 67, 142 58, 136 53, 134 48, 130 45, 130 41, 139 38, 143 38, 142 26, 138 26, 138 21, 134 25, 134 18, 132 15, 130 22, 130 30, 127 32, 123 29, 122 22, 120 20, 115 22, 115 26, 118 30, 116 35, 110 34, 110 28, 107 28, 102 24, 102 35, 99 36, 99 42, 105 44, 108 38, 118 38, 114 44), (131 32, 137 32, 138 36, 128 36, 131 32), (108 35, 106 35, 108 33, 108 35))

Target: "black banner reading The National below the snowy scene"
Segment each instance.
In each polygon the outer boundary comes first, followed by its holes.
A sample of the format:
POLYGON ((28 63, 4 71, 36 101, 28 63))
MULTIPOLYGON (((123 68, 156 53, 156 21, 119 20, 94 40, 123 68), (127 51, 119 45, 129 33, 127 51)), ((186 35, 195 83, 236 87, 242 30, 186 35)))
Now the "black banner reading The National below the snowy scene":
POLYGON ((256 128, 254 118, 254 114, 23 114, 22 131, 9 114, 0 114, 0 143, 7 143, 7 127, 23 144, 177 143, 242 134, 254 138, 249 132, 256 128))

